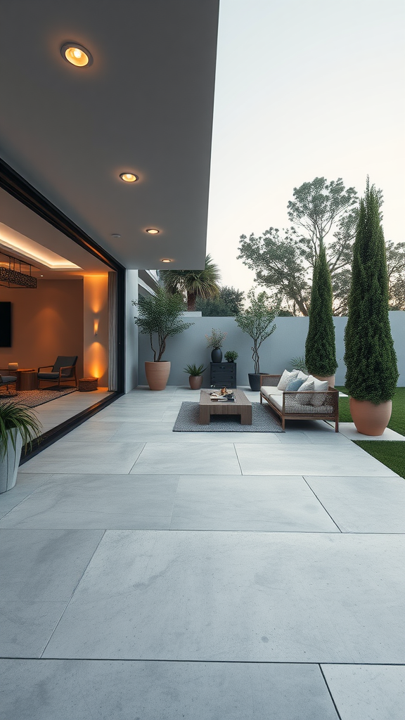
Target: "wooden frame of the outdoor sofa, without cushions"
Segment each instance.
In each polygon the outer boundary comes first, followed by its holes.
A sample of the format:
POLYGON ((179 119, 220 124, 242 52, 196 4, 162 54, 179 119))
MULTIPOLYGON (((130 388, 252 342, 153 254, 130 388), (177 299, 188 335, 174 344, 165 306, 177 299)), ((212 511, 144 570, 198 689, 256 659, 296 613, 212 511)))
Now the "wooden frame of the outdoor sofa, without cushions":
MULTIPOLYGON (((281 375, 260 375, 260 387, 275 387, 280 382, 281 375)), ((282 396, 280 395, 280 400, 282 397, 282 409, 277 408, 277 405, 274 405, 270 398, 266 397, 265 395, 262 395, 262 392, 260 392, 260 402, 263 403, 263 399, 267 400, 267 402, 270 405, 270 408, 274 410, 274 412, 280 417, 281 419, 281 426, 282 429, 285 430, 285 420, 324 420, 325 422, 327 420, 332 420, 334 422, 334 430, 336 433, 339 432, 339 390, 336 390, 335 387, 330 387, 328 390, 308 390, 308 392, 311 395, 324 395, 326 399, 326 395, 328 396, 327 399, 327 405, 329 405, 331 408, 333 408, 333 413, 306 413, 306 405, 302 405, 302 412, 297 413, 291 412, 288 409, 289 405, 296 405, 295 403, 295 396, 298 395, 297 392, 290 392, 290 390, 285 390, 282 393, 282 396)), ((300 392, 300 395, 305 394, 305 391, 302 393, 300 392)), ((311 405, 311 408, 314 408, 313 405, 311 405)), ((314 408, 315 409, 315 408, 314 408)))

